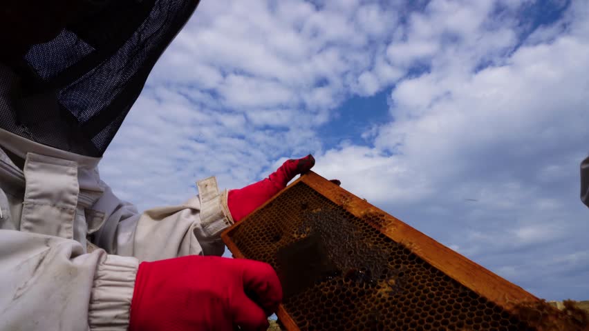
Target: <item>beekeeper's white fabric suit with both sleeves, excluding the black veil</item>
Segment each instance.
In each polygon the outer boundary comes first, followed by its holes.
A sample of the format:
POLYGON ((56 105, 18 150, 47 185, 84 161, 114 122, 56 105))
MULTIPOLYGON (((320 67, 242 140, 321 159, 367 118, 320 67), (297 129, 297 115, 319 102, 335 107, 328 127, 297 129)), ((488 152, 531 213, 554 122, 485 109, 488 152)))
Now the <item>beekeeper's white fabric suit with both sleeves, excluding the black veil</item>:
POLYGON ((232 220, 214 178, 140 214, 100 180, 99 162, 0 129, 0 330, 124 330, 140 261, 223 254, 232 220))

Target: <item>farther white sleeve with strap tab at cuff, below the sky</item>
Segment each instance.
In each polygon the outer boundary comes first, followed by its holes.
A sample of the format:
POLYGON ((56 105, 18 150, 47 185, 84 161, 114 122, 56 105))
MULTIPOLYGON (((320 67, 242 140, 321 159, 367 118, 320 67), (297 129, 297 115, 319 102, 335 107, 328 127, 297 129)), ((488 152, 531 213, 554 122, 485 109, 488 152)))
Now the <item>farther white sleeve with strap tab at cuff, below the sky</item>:
POLYGON ((191 254, 221 255, 220 234, 233 224, 227 191, 218 192, 214 177, 198 181, 198 196, 181 205, 153 208, 139 214, 105 185, 93 209, 109 215, 93 234, 93 242, 111 254, 156 261, 191 254))

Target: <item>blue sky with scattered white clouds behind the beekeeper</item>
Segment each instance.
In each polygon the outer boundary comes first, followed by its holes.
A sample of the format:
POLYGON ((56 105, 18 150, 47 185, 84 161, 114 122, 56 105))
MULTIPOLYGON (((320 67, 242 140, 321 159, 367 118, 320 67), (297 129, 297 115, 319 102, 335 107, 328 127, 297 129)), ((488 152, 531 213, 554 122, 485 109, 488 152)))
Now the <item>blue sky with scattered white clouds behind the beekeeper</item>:
POLYGON ((315 170, 545 299, 589 299, 589 1, 203 0, 102 163, 140 209, 315 170))

